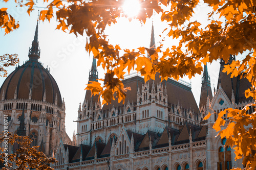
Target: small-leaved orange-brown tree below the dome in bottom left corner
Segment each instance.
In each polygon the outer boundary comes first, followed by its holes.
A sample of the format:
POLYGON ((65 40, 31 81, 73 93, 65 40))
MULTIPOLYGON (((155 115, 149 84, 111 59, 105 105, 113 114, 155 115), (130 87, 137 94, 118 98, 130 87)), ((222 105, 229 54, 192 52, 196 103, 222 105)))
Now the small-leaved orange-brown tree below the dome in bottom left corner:
POLYGON ((31 146, 31 141, 28 136, 18 136, 10 133, 6 133, 5 136, 1 135, 0 143, 8 144, 8 147, 0 148, 2 151, 0 161, 5 165, 2 169, 54 169, 49 165, 57 162, 57 160, 53 157, 48 158, 44 153, 38 151, 38 146, 31 146), (14 145, 18 145, 18 149, 10 153, 11 147, 14 145), (6 153, 8 153, 8 156, 6 156, 6 153))

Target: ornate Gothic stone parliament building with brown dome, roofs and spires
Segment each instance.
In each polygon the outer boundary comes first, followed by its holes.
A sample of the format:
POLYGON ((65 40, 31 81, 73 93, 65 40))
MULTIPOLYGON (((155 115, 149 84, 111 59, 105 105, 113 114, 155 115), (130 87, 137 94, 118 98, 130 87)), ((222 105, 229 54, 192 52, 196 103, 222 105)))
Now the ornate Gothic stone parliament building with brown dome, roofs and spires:
MULTIPOLYGON (((113 101, 101 106, 98 96, 86 91, 77 112, 77 133, 73 140, 65 131, 65 102, 48 68, 39 61, 38 25, 29 60, 6 78, 0 89, 0 130, 8 115, 9 132, 28 135, 34 145, 58 162, 55 169, 210 169, 243 167, 226 139, 212 129, 217 114, 226 108, 243 108, 251 103, 244 91, 250 83, 222 72, 228 63, 220 61, 217 89, 211 91, 207 65, 202 76, 199 107, 191 84, 183 81, 144 82, 140 74, 125 77, 131 87, 124 104, 113 101), (208 120, 203 118, 210 113, 208 120), (22 126, 24 124, 25 126, 22 126), (23 128, 20 128, 23 127, 23 128)), ((152 26, 150 46, 154 48, 152 26)), ((97 81, 93 59, 89 81, 97 81)), ((74 94, 75 95, 75 94, 74 94)), ((74 96, 75 97, 75 96, 74 96)), ((254 108, 251 108, 251 112, 254 108)))

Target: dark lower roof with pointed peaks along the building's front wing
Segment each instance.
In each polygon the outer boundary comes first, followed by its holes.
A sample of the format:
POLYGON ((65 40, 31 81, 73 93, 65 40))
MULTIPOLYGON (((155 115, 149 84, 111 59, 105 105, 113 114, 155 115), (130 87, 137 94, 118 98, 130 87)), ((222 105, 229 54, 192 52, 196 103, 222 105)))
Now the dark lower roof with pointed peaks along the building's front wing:
MULTIPOLYGON (((147 131, 146 134, 138 134, 130 130, 126 130, 126 133, 129 139, 134 138, 134 149, 135 152, 149 150, 150 149, 150 137, 152 142, 152 148, 162 148, 169 145, 169 135, 172 139, 172 145, 189 143, 189 132, 191 129, 191 135, 193 141, 202 141, 205 140, 207 133, 207 126, 195 126, 193 124, 186 123, 180 130, 173 129, 170 127, 165 127, 162 134, 147 131)), ((115 142, 117 139, 114 139, 115 142)), ((92 147, 89 145, 81 144, 80 147, 74 147, 68 144, 64 144, 65 150, 69 147, 69 161, 77 162, 80 160, 80 155, 82 152, 82 160, 95 159, 95 151, 97 153, 97 158, 109 157, 111 152, 111 146, 113 139, 110 138, 108 142, 94 142, 92 147), (74 151, 72 151, 74 150, 74 151), (72 156, 73 155, 73 156, 72 156)))

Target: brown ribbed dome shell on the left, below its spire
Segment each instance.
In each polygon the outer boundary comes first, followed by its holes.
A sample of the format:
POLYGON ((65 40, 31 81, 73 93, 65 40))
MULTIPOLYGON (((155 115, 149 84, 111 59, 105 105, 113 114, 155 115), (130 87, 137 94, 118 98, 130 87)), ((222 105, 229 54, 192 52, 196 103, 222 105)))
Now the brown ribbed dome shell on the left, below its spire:
POLYGON ((54 104, 57 97, 57 105, 61 106, 61 95, 58 85, 49 70, 44 68, 38 61, 28 60, 7 77, 0 89, 0 96, 5 100, 31 99, 43 101, 46 92, 46 102, 54 104), (16 94, 15 94, 16 92, 16 94), (3 94, 4 93, 4 94, 3 94))

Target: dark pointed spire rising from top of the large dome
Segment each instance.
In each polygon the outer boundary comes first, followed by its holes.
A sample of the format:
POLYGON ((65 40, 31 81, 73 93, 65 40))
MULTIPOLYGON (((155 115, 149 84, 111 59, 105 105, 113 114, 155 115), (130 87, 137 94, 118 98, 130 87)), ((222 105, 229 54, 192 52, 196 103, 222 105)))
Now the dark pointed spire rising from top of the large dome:
POLYGON ((38 61, 39 58, 40 58, 40 48, 39 48, 39 42, 38 42, 38 19, 37 19, 34 40, 32 41, 31 48, 29 48, 29 60, 38 61))

